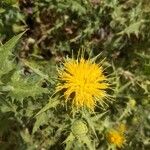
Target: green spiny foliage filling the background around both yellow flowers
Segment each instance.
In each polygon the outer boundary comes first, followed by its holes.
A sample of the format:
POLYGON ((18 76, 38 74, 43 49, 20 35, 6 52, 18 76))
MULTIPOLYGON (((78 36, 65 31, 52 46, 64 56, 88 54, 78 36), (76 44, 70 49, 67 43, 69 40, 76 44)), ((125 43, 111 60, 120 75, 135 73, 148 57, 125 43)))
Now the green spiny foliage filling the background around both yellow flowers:
POLYGON ((121 149, 149 149, 149 7, 148 0, 0 1, 0 149, 119 149, 106 133, 120 124, 121 149), (105 109, 72 114, 56 93, 57 67, 79 49, 106 57, 113 90, 105 109))

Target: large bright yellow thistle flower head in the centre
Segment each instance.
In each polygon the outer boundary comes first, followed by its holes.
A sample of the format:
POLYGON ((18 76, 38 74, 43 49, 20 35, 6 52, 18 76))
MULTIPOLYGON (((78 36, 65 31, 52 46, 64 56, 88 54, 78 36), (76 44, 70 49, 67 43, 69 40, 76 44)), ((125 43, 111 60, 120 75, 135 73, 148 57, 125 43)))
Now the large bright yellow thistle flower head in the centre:
POLYGON ((87 107, 94 110, 97 101, 106 97, 108 83, 103 69, 92 60, 67 59, 59 70, 57 91, 64 91, 66 102, 71 100, 76 108, 87 107))

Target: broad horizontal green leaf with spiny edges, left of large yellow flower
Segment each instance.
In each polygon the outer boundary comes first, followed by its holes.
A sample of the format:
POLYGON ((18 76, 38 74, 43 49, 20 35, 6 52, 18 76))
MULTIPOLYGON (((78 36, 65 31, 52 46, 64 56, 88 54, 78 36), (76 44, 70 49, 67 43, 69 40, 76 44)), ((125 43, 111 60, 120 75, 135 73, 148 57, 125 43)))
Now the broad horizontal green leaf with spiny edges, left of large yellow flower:
POLYGON ((43 93, 49 93, 48 89, 43 88, 41 83, 29 77, 22 77, 19 72, 16 72, 11 82, 3 87, 3 90, 9 91, 9 96, 22 101, 24 98, 32 97, 33 99, 43 93))

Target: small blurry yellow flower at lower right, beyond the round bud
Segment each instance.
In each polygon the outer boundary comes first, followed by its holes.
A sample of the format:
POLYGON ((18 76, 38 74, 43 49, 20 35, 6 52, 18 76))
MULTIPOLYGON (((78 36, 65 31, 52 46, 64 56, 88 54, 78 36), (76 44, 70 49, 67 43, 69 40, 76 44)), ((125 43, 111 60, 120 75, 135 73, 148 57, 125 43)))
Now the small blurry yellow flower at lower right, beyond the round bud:
POLYGON ((125 143, 125 136, 117 130, 108 132, 107 139, 111 144, 114 144, 119 148, 125 143))

